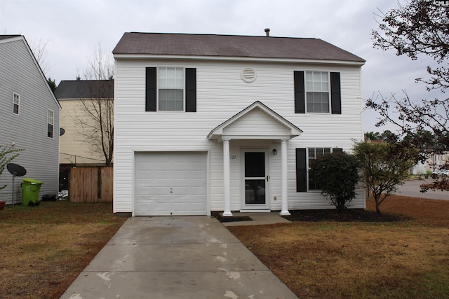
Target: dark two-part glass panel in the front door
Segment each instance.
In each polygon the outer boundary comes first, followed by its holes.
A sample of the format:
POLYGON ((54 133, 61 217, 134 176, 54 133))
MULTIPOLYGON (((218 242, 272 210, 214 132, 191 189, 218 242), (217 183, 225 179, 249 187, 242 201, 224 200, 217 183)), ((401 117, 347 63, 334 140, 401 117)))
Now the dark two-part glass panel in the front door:
POLYGON ((265 204, 264 152, 245 152, 245 203, 265 204))

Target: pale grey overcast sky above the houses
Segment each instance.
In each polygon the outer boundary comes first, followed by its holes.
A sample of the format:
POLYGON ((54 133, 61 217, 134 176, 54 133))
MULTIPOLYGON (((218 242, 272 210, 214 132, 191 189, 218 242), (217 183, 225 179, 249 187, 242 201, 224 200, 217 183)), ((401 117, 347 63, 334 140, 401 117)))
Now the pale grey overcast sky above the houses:
MULTIPOLYGON (((46 42, 46 76, 74 80, 83 74, 101 45, 112 52, 124 32, 236 34, 317 38, 366 60, 362 97, 378 92, 429 97, 415 78, 432 61, 397 57, 373 48, 375 13, 396 6, 392 0, 0 0, 0 34, 22 34, 33 48, 46 42)), ((364 130, 374 126, 373 111, 363 112, 364 130)))

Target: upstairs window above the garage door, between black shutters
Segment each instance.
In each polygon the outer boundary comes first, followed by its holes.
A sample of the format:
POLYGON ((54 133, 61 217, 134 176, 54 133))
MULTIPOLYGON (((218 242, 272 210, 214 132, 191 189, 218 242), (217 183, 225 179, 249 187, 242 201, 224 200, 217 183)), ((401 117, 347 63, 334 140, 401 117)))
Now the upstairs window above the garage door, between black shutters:
POLYGON ((160 111, 184 110, 184 69, 180 67, 159 68, 160 111))

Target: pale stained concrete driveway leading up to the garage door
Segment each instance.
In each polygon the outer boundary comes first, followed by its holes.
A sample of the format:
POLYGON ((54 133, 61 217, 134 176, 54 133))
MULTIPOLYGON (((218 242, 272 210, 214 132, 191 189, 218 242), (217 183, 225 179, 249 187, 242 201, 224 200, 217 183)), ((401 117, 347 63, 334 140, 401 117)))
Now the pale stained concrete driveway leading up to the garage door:
POLYGON ((297 296, 215 218, 167 216, 129 218, 61 298, 297 296))

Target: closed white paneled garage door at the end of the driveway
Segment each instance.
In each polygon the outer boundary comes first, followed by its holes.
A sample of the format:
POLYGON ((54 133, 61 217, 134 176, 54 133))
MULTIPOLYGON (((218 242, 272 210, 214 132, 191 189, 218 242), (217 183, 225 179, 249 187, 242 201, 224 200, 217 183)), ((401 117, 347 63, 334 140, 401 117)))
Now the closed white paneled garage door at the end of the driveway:
POLYGON ((206 153, 135 153, 135 215, 206 215, 206 153))

